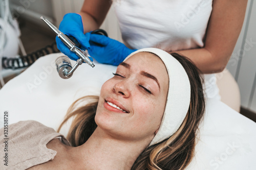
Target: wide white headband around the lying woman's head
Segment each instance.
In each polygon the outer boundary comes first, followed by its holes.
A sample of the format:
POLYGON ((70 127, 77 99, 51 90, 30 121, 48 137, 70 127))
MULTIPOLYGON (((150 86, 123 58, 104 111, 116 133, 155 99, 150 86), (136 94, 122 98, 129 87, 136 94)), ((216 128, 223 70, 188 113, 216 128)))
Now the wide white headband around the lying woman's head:
POLYGON ((172 136, 181 126, 190 104, 190 83, 180 62, 158 48, 142 48, 130 54, 124 61, 139 52, 150 52, 157 55, 165 64, 169 76, 165 110, 159 130, 150 143, 153 145, 172 136))

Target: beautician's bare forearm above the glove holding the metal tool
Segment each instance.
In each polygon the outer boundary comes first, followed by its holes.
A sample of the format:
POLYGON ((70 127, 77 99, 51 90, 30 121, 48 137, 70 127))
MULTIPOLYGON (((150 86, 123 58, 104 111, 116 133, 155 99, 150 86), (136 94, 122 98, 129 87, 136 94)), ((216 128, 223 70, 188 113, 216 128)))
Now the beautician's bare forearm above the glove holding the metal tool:
POLYGON ((84 33, 96 30, 104 21, 112 1, 110 0, 86 0, 79 14, 82 16, 84 33))

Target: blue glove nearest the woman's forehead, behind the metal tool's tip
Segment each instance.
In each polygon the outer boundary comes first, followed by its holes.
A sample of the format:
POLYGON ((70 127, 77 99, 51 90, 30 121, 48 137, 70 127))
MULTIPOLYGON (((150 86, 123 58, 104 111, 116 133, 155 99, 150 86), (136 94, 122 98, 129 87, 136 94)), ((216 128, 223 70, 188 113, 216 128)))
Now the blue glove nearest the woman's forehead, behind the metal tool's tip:
POLYGON ((119 65, 127 56, 136 51, 104 35, 91 34, 89 42, 90 56, 104 64, 119 65))

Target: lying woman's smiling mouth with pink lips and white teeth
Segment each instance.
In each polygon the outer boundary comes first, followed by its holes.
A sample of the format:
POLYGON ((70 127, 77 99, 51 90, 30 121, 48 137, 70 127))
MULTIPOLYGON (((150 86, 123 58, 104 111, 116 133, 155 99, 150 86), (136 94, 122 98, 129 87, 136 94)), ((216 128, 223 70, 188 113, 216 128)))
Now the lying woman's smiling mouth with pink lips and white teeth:
POLYGON ((112 98, 106 98, 104 102, 104 107, 110 111, 121 112, 121 113, 130 113, 127 111, 119 102, 112 98))

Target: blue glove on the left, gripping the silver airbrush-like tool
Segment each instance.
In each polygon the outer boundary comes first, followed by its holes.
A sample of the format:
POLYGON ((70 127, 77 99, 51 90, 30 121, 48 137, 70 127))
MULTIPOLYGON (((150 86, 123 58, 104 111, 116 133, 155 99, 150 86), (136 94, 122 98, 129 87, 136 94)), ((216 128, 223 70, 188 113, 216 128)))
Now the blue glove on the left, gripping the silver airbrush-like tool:
MULTIPOLYGON (((82 17, 76 13, 68 13, 63 17, 60 22, 59 31, 68 36, 72 36, 77 39, 81 44, 81 50, 87 50, 90 48, 89 39, 90 33, 83 34, 82 17)), ((73 39, 71 39, 73 41, 73 39)), ((72 60, 77 60, 79 57, 71 52, 70 49, 56 36, 57 48, 67 55, 72 60)), ((91 59, 91 58, 90 58, 91 59)), ((92 60, 92 59, 91 59, 92 60)))

